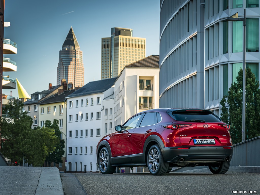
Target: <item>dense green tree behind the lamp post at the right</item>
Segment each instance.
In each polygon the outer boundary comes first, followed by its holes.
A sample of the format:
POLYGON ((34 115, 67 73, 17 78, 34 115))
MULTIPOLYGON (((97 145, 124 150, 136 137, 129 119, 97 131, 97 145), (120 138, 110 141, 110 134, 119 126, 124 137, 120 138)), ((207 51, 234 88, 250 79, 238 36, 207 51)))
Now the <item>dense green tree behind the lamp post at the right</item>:
MULTIPOLYGON (((231 84, 228 98, 220 101, 222 105, 221 120, 230 124, 230 134, 233 144, 242 140, 242 96, 243 96, 243 70, 240 69, 237 82, 231 84), (226 108, 228 106, 229 108, 226 108)), ((246 68, 245 93, 245 126, 246 140, 260 136, 260 90, 259 81, 250 68, 246 68)))

